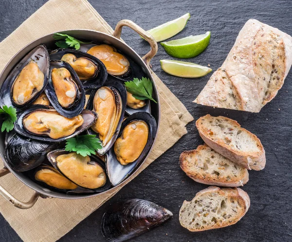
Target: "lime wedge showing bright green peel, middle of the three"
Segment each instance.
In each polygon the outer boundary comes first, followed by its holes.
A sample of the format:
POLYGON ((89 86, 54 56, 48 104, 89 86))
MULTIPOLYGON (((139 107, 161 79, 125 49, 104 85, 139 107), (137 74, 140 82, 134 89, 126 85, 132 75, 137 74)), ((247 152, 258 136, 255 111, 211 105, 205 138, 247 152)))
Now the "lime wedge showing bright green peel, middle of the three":
POLYGON ((207 48, 210 41, 211 32, 208 31, 200 35, 191 35, 182 39, 162 42, 165 51, 176 58, 191 58, 201 54, 207 48))

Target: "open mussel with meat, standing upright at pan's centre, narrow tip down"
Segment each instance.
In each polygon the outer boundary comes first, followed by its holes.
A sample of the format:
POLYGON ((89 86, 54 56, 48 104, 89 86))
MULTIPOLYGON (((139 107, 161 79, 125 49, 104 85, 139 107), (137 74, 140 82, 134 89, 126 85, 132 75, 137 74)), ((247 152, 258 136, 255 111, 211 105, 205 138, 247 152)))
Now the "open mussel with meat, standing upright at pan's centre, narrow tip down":
POLYGON ((127 102, 126 88, 121 81, 109 76, 105 84, 106 86, 92 92, 87 105, 87 109, 96 112, 99 117, 87 132, 99 133, 103 146, 98 150, 100 155, 105 154, 116 140, 127 102))

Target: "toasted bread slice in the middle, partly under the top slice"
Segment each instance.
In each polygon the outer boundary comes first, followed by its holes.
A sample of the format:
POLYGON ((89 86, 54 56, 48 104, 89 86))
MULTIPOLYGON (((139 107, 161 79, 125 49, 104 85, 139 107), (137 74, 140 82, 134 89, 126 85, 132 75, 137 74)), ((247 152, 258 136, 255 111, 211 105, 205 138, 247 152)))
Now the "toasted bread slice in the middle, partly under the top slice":
POLYGON ((183 151, 180 165, 186 175, 203 184, 239 187, 248 182, 247 169, 220 155, 208 145, 183 151))

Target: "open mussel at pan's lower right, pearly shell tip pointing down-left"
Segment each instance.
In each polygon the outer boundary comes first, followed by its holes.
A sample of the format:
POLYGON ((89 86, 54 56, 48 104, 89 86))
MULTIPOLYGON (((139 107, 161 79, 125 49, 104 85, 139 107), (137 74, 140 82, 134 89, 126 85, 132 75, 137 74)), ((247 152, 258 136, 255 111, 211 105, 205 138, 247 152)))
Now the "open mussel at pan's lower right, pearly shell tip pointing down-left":
MULTIPOLYGON (((145 113, 145 112, 137 112, 130 115, 122 123, 118 137, 121 139, 125 139, 126 137, 122 136, 122 135, 127 135, 127 134, 123 134, 124 129, 127 128, 128 125, 129 126, 133 125, 136 128, 135 122, 142 122, 147 125, 148 135, 146 137, 146 141, 141 141, 141 144, 140 144, 140 142, 134 142, 135 140, 134 138, 129 140, 130 143, 127 144, 127 147, 123 148, 123 150, 126 151, 127 153, 126 155, 132 153, 138 156, 137 159, 135 159, 134 161, 130 160, 129 162, 123 161, 125 160, 124 158, 123 159, 119 158, 120 161, 118 160, 117 155, 114 150, 115 144, 114 146, 110 148, 106 156, 106 164, 107 164, 107 173, 110 178, 110 182, 113 186, 116 186, 119 183, 121 183, 134 171, 135 168, 137 168, 141 164, 141 162, 146 157, 148 151, 150 150, 154 142, 156 132, 157 132, 157 124, 156 124, 155 118, 151 114, 145 113), (136 147, 135 145, 139 145, 140 147, 136 147), (144 147, 144 148, 142 147, 143 150, 141 149, 141 145, 143 145, 144 147), (136 154, 136 151, 138 151, 139 153, 136 154), (121 164, 121 162, 124 163, 124 165, 121 164)), ((145 128, 142 127, 142 129, 145 129, 145 128)), ((137 135, 138 135, 137 139, 139 139, 139 136, 141 136, 141 133, 138 133, 137 135)), ((115 141, 115 143, 119 142, 119 138, 115 141)), ((141 139, 142 138, 145 139, 145 137, 141 136, 141 139)), ((120 144, 118 144, 118 146, 119 148, 121 147, 120 144)), ((124 155, 122 154, 120 154, 120 156, 124 157, 124 155)))

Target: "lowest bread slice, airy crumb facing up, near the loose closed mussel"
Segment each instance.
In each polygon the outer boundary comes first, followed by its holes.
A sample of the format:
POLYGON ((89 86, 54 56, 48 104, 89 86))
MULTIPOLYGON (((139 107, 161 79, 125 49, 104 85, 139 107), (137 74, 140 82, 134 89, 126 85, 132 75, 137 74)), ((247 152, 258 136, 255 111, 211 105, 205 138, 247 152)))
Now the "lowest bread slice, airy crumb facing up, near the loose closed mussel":
POLYGON ((184 201, 180 223, 197 232, 236 224, 250 207, 250 198, 240 188, 208 187, 184 201))

